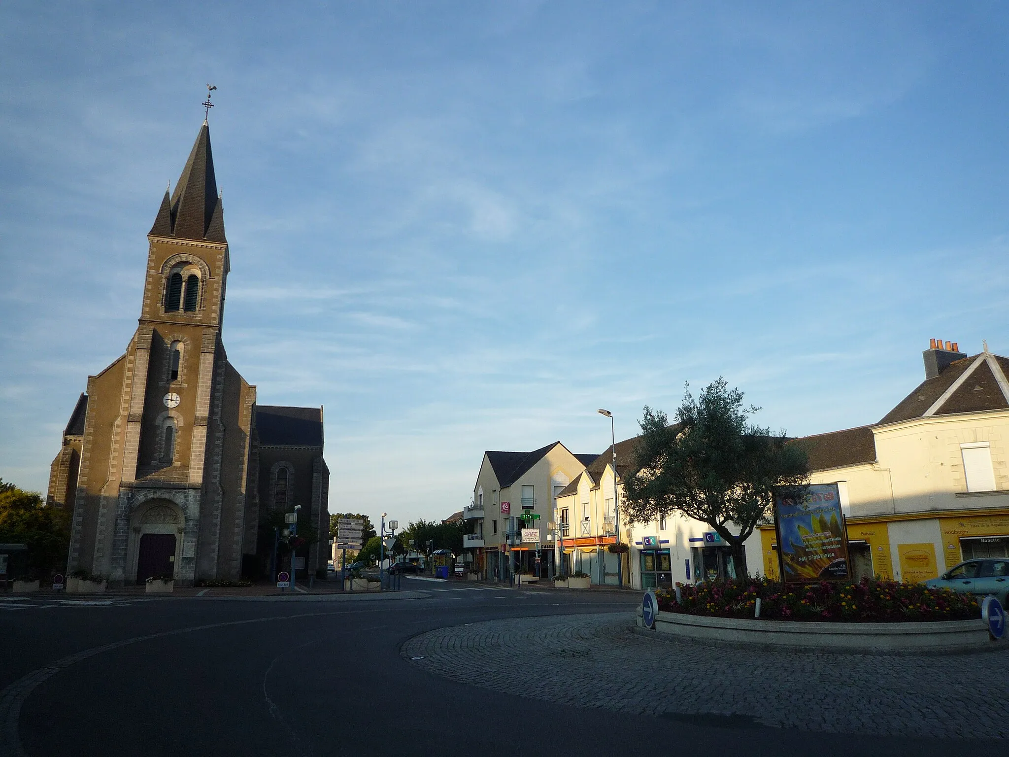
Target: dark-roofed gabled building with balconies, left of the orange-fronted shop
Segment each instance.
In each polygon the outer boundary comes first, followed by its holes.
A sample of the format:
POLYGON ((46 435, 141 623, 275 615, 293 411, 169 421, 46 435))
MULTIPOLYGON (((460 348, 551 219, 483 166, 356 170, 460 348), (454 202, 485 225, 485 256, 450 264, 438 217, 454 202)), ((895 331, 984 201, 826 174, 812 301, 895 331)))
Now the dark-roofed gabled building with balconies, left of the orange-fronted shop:
POLYGON ((491 580, 515 573, 554 574, 554 498, 596 455, 574 454, 556 441, 532 452, 487 450, 463 518, 464 560, 491 580))

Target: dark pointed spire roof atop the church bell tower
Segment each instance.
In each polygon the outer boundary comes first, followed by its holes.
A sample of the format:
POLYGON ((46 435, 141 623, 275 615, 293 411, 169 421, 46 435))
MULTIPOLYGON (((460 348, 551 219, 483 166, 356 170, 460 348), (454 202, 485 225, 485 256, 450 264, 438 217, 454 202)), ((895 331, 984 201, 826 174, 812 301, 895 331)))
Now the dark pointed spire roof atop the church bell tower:
POLYGON ((207 121, 200 127, 175 192, 171 198, 167 192, 164 193, 150 233, 227 242, 224 236, 223 208, 217 196, 214 154, 210 147, 210 126, 207 121))

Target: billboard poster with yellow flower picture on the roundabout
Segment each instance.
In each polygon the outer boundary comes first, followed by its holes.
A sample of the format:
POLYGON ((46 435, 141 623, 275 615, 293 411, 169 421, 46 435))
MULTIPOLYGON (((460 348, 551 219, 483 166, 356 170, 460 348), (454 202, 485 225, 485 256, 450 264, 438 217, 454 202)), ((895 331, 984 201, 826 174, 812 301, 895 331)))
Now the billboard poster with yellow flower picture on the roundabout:
POLYGON ((848 536, 836 483, 781 490, 774 498, 774 525, 786 583, 849 578, 848 536))

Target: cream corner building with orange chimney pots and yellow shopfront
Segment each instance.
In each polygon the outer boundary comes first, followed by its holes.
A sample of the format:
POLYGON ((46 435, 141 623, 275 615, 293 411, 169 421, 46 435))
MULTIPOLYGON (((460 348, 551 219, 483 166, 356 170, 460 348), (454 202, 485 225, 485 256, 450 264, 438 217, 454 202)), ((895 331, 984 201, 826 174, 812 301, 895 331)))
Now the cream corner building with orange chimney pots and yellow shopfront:
MULTIPOLYGON (((931 340, 925 380, 878 423, 797 440, 836 482, 856 577, 924 580, 1009 556, 1009 358, 931 340)), ((773 526, 764 571, 778 575, 773 526)))

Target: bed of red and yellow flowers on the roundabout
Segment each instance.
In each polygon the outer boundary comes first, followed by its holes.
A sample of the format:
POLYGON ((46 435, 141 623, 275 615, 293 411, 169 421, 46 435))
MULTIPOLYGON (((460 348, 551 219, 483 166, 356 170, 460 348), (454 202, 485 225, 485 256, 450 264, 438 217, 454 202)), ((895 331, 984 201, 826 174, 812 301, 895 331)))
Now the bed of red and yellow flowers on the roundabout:
POLYGON ((858 583, 820 581, 785 585, 764 577, 743 581, 677 584, 656 591, 659 610, 713 618, 753 618, 761 600, 760 619, 846 623, 907 623, 959 621, 979 617, 980 605, 971 594, 863 578, 858 583))

